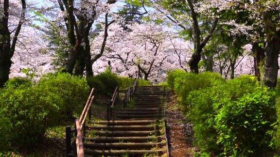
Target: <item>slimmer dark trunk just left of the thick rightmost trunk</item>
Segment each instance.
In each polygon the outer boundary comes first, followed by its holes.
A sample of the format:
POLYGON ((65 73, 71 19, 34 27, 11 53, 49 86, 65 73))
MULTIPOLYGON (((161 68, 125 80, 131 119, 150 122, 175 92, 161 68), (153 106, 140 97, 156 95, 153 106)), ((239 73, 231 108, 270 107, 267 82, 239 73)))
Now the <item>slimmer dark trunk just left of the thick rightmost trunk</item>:
POLYGON ((258 81, 261 81, 261 71, 260 66, 265 57, 264 49, 259 46, 259 42, 252 43, 252 51, 255 54, 254 56, 254 69, 255 69, 255 76, 257 77, 258 81))

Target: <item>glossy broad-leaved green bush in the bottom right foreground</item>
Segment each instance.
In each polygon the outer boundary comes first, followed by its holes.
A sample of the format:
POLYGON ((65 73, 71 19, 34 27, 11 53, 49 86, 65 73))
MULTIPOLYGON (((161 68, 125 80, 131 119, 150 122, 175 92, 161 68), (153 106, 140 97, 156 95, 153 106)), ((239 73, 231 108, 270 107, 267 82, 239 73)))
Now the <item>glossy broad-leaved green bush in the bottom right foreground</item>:
POLYGON ((267 88, 227 101, 216 118, 218 143, 223 155, 259 156, 269 151, 272 124, 276 121, 275 95, 267 88))

